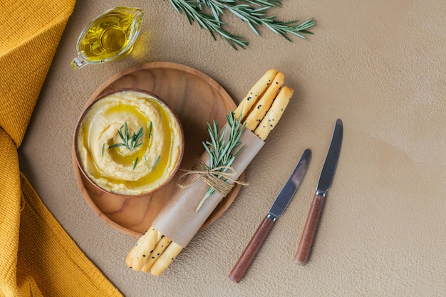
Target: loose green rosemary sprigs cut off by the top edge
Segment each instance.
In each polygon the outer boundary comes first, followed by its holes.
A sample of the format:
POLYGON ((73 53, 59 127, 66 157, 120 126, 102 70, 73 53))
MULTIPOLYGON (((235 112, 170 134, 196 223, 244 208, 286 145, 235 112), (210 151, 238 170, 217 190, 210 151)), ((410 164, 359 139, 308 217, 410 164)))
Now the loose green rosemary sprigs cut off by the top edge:
POLYGON ((220 20, 224 11, 229 11, 246 22, 257 36, 260 35, 257 30, 258 27, 264 25, 274 33, 284 36, 288 41, 291 41, 291 39, 287 34, 305 39, 306 37, 303 34, 312 34, 307 29, 316 24, 312 19, 299 24, 298 20, 278 21, 276 16, 266 16, 266 11, 271 7, 281 7, 281 0, 170 0, 170 3, 178 13, 182 11, 185 13, 190 24, 197 21, 200 27, 211 33, 212 38, 216 39, 215 36, 218 35, 234 49, 237 49, 237 46, 247 48, 248 41, 243 36, 229 33, 222 28, 226 25, 220 20), (204 12, 205 9, 210 11, 211 14, 204 12))

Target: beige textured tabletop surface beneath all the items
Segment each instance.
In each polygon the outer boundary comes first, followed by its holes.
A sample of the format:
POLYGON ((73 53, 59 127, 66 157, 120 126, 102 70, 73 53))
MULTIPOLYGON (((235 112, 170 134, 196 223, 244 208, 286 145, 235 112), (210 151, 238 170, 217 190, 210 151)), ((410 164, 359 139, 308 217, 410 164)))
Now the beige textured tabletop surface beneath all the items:
MULTIPOLYGON (((80 0, 38 100, 21 168, 85 254, 125 296, 445 296, 446 2, 283 1, 280 19, 314 17, 308 40, 266 29, 247 50, 213 41, 169 1, 80 0), (113 6, 146 12, 133 56, 71 70, 83 26, 113 6), (294 97, 247 170, 249 187, 154 278, 125 266, 135 239, 110 228, 84 202, 71 166, 81 109, 111 75, 139 63, 182 63, 211 76, 238 103, 269 68, 294 97), (292 259, 336 118, 341 160, 316 245, 304 267, 292 259), (313 158, 303 184, 241 283, 228 274, 301 152, 313 158)), ((81 284, 80 284, 81 285, 81 284)))

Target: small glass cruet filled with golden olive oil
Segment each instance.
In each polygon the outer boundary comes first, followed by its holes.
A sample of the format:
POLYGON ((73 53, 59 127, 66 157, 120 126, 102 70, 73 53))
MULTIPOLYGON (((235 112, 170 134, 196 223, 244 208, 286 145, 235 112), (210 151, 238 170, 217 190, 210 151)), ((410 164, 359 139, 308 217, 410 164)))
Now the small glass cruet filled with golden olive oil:
POLYGON ((74 69, 115 61, 127 56, 141 30, 144 13, 133 7, 115 7, 98 15, 83 29, 76 45, 74 69))

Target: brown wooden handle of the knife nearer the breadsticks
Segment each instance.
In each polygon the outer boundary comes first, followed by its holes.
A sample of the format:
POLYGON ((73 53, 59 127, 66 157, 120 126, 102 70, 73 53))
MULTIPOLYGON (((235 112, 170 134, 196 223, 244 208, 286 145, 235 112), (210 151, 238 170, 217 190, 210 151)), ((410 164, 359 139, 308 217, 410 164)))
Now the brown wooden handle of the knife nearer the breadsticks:
POLYGON ((242 256, 240 256, 239 261, 237 261, 231 273, 229 273, 229 278, 231 279, 231 281, 238 283, 242 280, 244 273, 247 272, 249 266, 254 260, 254 256, 256 256, 261 244, 263 244, 263 242, 265 241, 266 235, 268 235, 269 230, 271 230, 273 224, 274 221, 272 219, 269 219, 268 217, 265 217, 264 220, 261 222, 259 228, 257 228, 256 233, 254 233, 254 235, 252 236, 251 241, 249 241, 249 244, 244 249, 242 256))

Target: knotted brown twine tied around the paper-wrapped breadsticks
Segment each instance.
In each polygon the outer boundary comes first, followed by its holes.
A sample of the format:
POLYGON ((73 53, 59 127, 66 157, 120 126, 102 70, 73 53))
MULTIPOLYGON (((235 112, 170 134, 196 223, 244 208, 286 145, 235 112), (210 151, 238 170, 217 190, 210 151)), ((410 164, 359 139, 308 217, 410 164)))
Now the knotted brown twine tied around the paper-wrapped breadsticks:
POLYGON ((231 192, 235 184, 241 184, 242 186, 248 185, 247 182, 241 182, 233 178, 234 176, 237 176, 237 170, 234 170, 234 168, 230 166, 209 168, 202 160, 197 160, 192 167, 192 170, 182 171, 185 171, 185 173, 180 176, 177 182, 178 186, 182 188, 190 187, 199 180, 203 180, 209 187, 212 187, 223 196, 226 196, 231 192), (197 178, 186 182, 185 179, 190 174, 197 175, 197 178))

